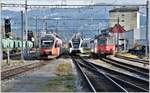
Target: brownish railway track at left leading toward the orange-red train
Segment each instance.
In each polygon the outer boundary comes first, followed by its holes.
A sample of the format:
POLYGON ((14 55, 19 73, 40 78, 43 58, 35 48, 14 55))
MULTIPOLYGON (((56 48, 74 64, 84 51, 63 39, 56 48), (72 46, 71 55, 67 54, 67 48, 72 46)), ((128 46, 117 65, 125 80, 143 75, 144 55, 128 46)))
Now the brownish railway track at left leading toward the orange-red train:
POLYGON ((18 66, 18 67, 3 70, 1 71, 1 80, 7 79, 9 77, 15 76, 17 74, 23 73, 25 71, 29 71, 31 69, 34 69, 34 68, 37 68, 46 64, 48 64, 48 62, 35 62, 35 63, 26 64, 23 66, 18 66))

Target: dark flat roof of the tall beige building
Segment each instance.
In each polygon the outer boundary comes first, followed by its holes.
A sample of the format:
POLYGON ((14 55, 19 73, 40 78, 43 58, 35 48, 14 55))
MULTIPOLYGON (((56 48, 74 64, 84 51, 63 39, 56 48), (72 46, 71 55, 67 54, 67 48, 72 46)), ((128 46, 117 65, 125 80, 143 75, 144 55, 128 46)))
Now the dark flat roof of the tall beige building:
POLYGON ((139 11, 138 7, 121 7, 121 8, 114 8, 109 12, 134 12, 139 11))

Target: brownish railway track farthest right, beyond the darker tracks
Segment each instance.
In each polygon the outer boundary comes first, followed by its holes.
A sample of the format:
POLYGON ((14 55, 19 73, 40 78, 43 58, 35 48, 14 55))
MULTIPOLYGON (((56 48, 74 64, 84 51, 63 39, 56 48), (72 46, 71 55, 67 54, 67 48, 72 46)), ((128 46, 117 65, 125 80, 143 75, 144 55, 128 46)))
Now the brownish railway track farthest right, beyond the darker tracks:
POLYGON ((129 60, 129 61, 133 61, 133 62, 142 63, 142 64, 144 64, 144 65, 149 65, 149 61, 142 60, 142 59, 131 58, 131 57, 125 57, 125 56, 121 56, 121 55, 115 55, 115 57, 121 58, 121 59, 125 59, 125 60, 129 60))

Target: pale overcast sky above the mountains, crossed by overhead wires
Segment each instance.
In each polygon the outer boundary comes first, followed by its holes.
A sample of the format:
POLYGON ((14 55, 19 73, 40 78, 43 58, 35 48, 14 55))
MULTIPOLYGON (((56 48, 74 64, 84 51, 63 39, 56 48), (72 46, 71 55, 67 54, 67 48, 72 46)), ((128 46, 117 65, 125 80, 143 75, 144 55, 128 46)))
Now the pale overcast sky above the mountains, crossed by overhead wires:
MULTIPOLYGON (((96 4, 96 3, 105 3, 105 4, 146 4, 147 0, 27 0, 28 4, 96 4)), ((2 0, 2 3, 15 3, 15 4, 24 4, 25 0, 2 0)), ((22 8, 3 8, 3 10, 15 10, 19 11, 22 8)))

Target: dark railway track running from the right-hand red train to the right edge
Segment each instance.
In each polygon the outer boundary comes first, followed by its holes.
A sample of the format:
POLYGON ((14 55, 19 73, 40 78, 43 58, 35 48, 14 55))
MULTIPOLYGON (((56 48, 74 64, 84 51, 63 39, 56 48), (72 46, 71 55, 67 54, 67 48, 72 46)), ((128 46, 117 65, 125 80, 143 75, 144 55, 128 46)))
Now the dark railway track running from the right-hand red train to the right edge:
POLYGON ((112 64, 115 67, 130 71, 130 72, 138 75, 139 77, 145 78, 147 80, 149 79, 149 70, 148 69, 133 66, 133 65, 126 64, 126 63, 123 63, 123 62, 120 62, 120 61, 116 61, 116 60, 111 59, 109 57, 101 58, 100 60, 102 60, 106 63, 112 64))

